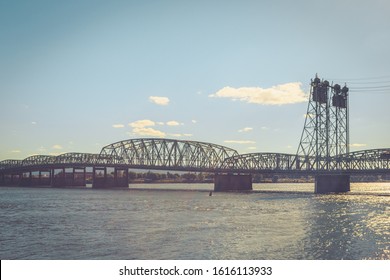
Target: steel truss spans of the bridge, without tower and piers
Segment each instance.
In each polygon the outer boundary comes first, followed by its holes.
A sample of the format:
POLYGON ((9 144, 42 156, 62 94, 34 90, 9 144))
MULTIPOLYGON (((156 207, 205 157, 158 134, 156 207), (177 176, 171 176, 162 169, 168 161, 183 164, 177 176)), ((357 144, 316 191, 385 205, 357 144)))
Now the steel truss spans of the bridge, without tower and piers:
MULTIPOLYGON (((322 159, 330 171, 389 173, 390 148, 352 152, 322 159)), ((239 154, 212 143, 162 138, 130 139, 102 148, 99 154, 34 155, 24 160, 3 160, 0 172, 17 173, 60 168, 120 167, 189 172, 315 173, 315 158, 283 153, 239 154)))

